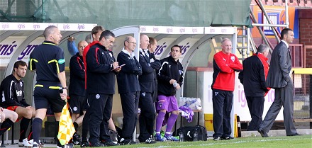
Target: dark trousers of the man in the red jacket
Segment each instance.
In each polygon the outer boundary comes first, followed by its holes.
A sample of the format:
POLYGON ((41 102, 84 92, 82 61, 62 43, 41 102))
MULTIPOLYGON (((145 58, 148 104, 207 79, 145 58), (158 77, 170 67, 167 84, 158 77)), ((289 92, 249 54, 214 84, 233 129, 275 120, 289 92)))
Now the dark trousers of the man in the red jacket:
POLYGON ((212 90, 213 137, 228 137, 231 134, 230 111, 233 105, 233 91, 212 90))

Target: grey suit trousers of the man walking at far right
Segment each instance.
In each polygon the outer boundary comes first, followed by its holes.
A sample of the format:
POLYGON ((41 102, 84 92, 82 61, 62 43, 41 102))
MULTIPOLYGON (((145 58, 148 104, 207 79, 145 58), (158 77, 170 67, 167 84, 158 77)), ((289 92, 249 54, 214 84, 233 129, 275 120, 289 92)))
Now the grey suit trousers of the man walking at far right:
POLYGON ((275 99, 267 111, 267 115, 260 125, 260 128, 265 132, 269 132, 279 114, 282 106, 284 107, 284 126, 286 135, 295 135, 297 133, 293 115, 294 115, 294 84, 291 81, 283 88, 275 89, 275 99))

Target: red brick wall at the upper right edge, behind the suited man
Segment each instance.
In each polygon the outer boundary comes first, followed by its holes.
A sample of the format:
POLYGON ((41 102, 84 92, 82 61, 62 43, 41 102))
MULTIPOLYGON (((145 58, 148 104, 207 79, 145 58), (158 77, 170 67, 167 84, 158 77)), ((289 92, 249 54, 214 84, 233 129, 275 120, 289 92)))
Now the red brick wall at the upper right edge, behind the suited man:
MULTIPOLYGON (((299 9, 299 42, 303 47, 312 45, 312 8, 299 9)), ((312 48, 306 49, 306 67, 312 68, 312 48)))

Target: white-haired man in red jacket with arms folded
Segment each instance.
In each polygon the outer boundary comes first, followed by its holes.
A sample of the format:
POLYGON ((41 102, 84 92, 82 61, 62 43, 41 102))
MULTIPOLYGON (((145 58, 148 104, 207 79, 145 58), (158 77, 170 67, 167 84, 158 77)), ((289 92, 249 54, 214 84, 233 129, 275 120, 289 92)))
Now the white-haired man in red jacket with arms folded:
POLYGON ((232 42, 222 40, 222 51, 213 56, 213 140, 230 140, 230 111, 233 105, 235 72, 243 70, 238 57, 231 53, 232 42))

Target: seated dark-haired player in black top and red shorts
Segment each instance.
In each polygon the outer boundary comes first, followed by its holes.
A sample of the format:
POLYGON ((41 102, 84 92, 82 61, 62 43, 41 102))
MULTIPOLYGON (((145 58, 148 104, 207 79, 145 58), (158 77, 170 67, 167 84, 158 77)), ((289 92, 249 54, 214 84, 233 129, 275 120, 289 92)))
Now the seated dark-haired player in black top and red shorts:
POLYGON ((35 117, 35 108, 28 105, 24 98, 24 83, 21 78, 25 76, 26 69, 26 62, 15 62, 13 74, 6 76, 0 86, 1 94, 4 94, 1 106, 8 110, 15 111, 18 114, 18 120, 22 118, 20 124, 20 139, 18 142, 18 146, 20 147, 32 147, 32 142, 28 142, 26 138, 26 131, 31 118, 35 117))

